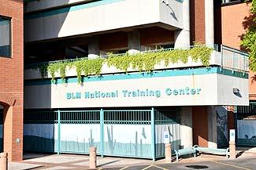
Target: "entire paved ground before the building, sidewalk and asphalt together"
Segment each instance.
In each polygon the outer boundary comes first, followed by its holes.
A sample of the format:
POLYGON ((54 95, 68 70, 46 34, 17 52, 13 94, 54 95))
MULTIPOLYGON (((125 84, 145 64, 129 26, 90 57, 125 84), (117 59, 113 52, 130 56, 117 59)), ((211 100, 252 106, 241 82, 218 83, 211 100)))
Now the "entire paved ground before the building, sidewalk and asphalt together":
MULTIPOLYGON (((89 168, 89 157, 85 155, 30 155, 21 162, 9 163, 9 170, 44 169, 44 170, 82 170, 89 168)), ((181 159, 179 162, 165 164, 165 160, 150 161, 121 157, 98 157, 98 170, 256 170, 256 153, 243 154, 236 160, 225 157, 200 155, 181 159)))

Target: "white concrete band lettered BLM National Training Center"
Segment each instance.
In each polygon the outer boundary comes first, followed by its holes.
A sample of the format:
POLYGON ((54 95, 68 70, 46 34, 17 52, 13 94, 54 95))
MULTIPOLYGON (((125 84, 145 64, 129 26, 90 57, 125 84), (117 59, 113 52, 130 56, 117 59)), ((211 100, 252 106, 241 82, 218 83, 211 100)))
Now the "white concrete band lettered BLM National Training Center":
MULTIPOLYGON (((188 70, 187 70, 188 71, 188 70)), ((202 105, 247 105, 246 78, 222 74, 197 74, 198 71, 165 71, 152 75, 140 73, 103 75, 101 78, 85 78, 83 85, 72 78, 70 83, 50 85, 49 81, 28 81, 25 86, 26 108, 74 108, 74 107, 152 107, 152 106, 202 106, 202 105), (187 75, 186 75, 187 72, 187 75), (169 74, 174 74, 169 76, 169 74), (177 74, 175 76, 175 74, 177 74), (219 81, 221 78, 222 81, 219 81), (223 81, 225 80, 225 81, 223 81), (173 84, 172 82, 176 82, 173 84), (211 82, 210 84, 208 82, 211 82), (237 83, 237 84, 236 84, 237 83), (241 97, 232 95, 233 85, 241 97), (180 90, 196 89, 196 94, 184 95, 180 90), (172 89, 172 94, 167 89, 172 89), (178 90, 176 93, 174 90, 178 90), (224 90, 221 90, 224 89, 224 90), (128 92, 131 92, 128 95, 128 92), (153 95, 137 95, 141 91, 154 91, 153 95), (95 91, 111 96, 96 97, 95 91), (76 92, 80 97, 76 97, 76 92), (90 95, 86 95, 89 92, 90 95), (174 94, 176 93, 176 94, 174 94), (87 97, 86 97, 87 96, 87 97), (228 96, 228 101, 221 100, 228 96)), ((200 71, 201 72, 201 71, 200 71)), ((98 95, 100 96, 100 95, 98 95)))

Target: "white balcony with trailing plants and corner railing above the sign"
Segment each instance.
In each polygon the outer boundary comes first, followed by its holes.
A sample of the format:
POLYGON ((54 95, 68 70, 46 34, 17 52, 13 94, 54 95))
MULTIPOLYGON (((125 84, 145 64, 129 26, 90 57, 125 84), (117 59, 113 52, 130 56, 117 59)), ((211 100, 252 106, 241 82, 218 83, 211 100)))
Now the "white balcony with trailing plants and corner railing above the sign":
POLYGON ((107 56, 99 56, 98 58, 92 60, 88 60, 88 58, 85 57, 74 60, 58 60, 45 63, 31 63, 25 66, 24 79, 32 80, 39 78, 64 78, 73 76, 80 77, 91 76, 95 74, 120 74, 128 72, 161 71, 174 69, 176 70, 211 66, 217 66, 221 69, 226 68, 228 70, 231 70, 232 72, 239 71, 243 72, 243 74, 246 74, 249 71, 247 53, 228 48, 224 45, 221 45, 221 52, 218 52, 217 45, 214 45, 214 49, 211 47, 207 47, 206 45, 195 45, 191 46, 191 49, 189 50, 158 49, 147 52, 137 52, 131 55, 128 55, 128 52, 125 54, 109 54, 107 56), (208 51, 208 54, 206 49, 210 50, 208 51), (194 52, 193 50, 195 52, 199 52, 199 56, 206 55, 206 58, 198 57, 197 59, 197 57, 191 56, 190 51, 194 52), (201 50, 202 52, 200 52, 201 50), (206 52, 204 53, 203 50, 205 50, 206 52), (184 56, 184 52, 188 52, 187 57, 184 56), (207 55, 209 55, 209 57, 207 57, 207 55), (142 62, 142 60, 147 60, 147 57, 149 57, 152 62, 155 62, 154 66, 146 66, 147 63, 142 62), (152 57, 158 59, 154 60, 152 59, 152 57), (140 62, 144 65, 139 66, 138 64, 137 66, 135 66, 135 63, 132 63, 132 58, 134 58, 134 60, 138 60, 135 62, 140 62), (130 63, 127 63, 128 66, 125 66, 125 64, 124 66, 122 66, 121 64, 118 65, 118 63, 124 63, 128 60, 130 60, 130 63), (87 64, 88 67, 94 67, 95 69, 91 69, 91 71, 86 71, 86 68, 81 66, 83 67, 83 69, 81 71, 78 71, 76 63, 85 65, 87 64), (88 65, 88 63, 92 65, 88 65), (65 68, 63 69, 64 65, 65 68), (96 67, 98 67, 98 71, 96 71, 96 67))

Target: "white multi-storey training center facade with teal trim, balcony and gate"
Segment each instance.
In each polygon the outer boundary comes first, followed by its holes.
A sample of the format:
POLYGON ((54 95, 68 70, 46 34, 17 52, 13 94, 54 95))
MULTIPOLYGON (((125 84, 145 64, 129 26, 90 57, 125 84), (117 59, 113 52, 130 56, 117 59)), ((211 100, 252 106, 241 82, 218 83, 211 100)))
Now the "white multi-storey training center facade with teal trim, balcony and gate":
POLYGON ((249 70, 246 53, 215 45, 215 6, 27 1, 24 150, 154 160, 166 134, 173 149, 226 146, 249 70))

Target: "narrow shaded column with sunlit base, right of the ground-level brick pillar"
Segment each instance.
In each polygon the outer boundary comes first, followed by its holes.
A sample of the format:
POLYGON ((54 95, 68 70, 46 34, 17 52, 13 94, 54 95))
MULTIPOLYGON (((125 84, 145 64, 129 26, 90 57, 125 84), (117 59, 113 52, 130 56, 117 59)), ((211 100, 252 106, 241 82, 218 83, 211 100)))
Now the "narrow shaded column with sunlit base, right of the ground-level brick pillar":
POLYGON ((217 148, 217 113, 215 107, 207 108, 208 114, 208 147, 217 148))

